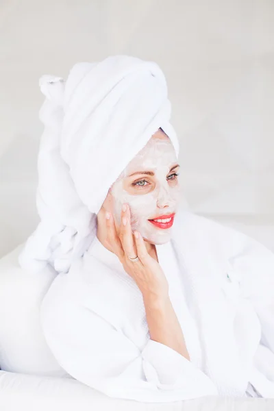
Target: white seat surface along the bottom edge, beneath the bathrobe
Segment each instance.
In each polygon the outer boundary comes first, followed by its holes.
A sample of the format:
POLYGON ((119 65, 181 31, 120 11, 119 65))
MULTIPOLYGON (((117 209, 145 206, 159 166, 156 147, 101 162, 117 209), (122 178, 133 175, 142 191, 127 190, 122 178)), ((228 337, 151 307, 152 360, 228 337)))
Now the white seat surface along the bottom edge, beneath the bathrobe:
POLYGON ((0 371, 1 410, 5 411, 272 411, 273 399, 201 397, 175 403, 112 399, 75 379, 0 371))

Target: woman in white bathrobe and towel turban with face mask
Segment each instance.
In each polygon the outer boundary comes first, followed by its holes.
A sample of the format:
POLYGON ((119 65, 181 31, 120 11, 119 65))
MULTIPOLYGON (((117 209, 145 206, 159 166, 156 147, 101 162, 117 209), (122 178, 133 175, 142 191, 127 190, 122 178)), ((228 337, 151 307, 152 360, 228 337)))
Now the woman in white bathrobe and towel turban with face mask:
POLYGON ((274 397, 274 256, 179 206, 178 143, 155 63, 114 56, 43 77, 41 223, 21 265, 62 368, 110 395, 274 397))

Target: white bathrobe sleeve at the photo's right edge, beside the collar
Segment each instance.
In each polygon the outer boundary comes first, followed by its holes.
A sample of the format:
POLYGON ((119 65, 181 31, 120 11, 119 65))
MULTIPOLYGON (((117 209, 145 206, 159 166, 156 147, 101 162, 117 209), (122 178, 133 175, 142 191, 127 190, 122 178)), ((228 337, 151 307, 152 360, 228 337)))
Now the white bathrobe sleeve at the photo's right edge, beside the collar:
POLYGON ((233 266, 261 329, 250 382, 262 397, 274 398, 274 253, 253 238, 242 237, 242 244, 233 266))

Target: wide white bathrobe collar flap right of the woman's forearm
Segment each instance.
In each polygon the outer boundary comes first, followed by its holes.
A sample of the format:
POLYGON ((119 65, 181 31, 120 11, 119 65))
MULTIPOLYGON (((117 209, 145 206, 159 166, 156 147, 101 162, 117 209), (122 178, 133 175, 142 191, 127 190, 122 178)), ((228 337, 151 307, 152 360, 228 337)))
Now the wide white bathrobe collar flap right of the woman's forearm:
MULTIPOLYGON (((191 212, 178 212, 172 244, 184 267, 189 308, 197 319, 203 346, 203 371, 229 395, 244 395, 247 370, 240 365, 234 338, 239 283, 229 263, 229 229, 191 212), (216 225, 215 225, 216 224, 216 225)), ((187 344, 187 341, 186 341, 187 344)), ((191 342, 189 342, 189 345, 191 342)), ((187 344, 188 345, 188 344, 187 344)))

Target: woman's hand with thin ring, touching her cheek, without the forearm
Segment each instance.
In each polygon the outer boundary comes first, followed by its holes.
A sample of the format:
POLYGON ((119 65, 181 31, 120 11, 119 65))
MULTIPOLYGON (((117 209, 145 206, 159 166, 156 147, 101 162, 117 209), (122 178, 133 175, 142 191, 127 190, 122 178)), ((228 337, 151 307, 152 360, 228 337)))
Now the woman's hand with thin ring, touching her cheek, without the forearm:
POLYGON ((147 252, 145 241, 139 232, 132 234, 130 210, 124 204, 125 211, 121 211, 121 229, 117 233, 114 217, 110 212, 105 214, 107 225, 108 249, 118 256, 127 274, 132 277, 145 298, 169 297, 169 284, 160 264, 147 252), (133 262, 129 257, 138 256, 133 262))

